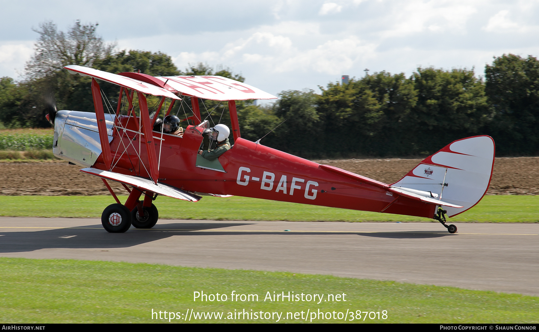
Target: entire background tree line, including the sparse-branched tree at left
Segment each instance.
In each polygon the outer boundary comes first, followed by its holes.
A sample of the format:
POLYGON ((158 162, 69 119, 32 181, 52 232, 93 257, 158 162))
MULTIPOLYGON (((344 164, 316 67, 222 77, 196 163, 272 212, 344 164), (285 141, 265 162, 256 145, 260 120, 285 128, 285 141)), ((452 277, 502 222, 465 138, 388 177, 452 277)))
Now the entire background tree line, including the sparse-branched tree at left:
MULTIPOLYGON (((114 51, 96 34, 97 24, 79 21, 67 32, 52 22, 40 24, 36 53, 26 64, 23 81, 0 79, 0 121, 5 127, 46 127, 45 102, 59 109, 93 112, 89 78, 62 67, 77 64, 119 73, 140 71, 155 76, 222 75, 244 81, 230 68, 197 63, 184 71, 161 52, 114 51)), ((490 135, 497 156, 539 154, 539 61, 533 56, 503 54, 486 65, 484 77, 474 70, 417 68, 404 73, 376 72, 312 90, 282 91, 277 102, 256 106, 237 102, 241 136, 308 158, 353 156, 421 156, 453 140, 490 135)), ((114 108, 117 86, 101 85, 114 108)), ((172 110, 188 117, 190 100, 172 110)), ((203 117, 230 125, 226 103, 204 100, 203 117), (208 112, 206 112, 206 110, 208 112), (208 115, 211 112, 210 115, 208 115)))

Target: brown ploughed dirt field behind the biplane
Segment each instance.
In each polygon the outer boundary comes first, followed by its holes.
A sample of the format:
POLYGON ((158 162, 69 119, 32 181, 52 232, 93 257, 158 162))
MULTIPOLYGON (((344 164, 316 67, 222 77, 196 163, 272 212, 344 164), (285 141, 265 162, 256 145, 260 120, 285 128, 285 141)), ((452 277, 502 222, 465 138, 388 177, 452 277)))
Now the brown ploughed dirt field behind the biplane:
MULTIPOLYGON (((393 183, 421 159, 315 160, 372 179, 393 183)), ((0 195, 109 195, 100 178, 83 174, 67 162, 0 163, 0 195)), ((539 157, 496 158, 490 195, 539 195, 539 157)), ((116 193, 123 186, 109 182, 116 193)))

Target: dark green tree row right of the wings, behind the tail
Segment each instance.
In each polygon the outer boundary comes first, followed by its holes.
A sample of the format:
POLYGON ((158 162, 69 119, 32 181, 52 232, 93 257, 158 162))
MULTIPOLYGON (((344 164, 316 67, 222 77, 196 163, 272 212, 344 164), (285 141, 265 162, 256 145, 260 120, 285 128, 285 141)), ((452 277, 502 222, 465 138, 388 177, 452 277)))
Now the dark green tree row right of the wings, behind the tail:
POLYGON ((287 119, 262 143, 310 158, 430 155, 475 135, 492 136, 497 156, 538 155, 538 87, 537 58, 514 54, 494 58, 484 78, 473 69, 378 72, 320 94, 283 91, 258 115, 265 128, 251 120, 244 131, 254 139, 287 119))

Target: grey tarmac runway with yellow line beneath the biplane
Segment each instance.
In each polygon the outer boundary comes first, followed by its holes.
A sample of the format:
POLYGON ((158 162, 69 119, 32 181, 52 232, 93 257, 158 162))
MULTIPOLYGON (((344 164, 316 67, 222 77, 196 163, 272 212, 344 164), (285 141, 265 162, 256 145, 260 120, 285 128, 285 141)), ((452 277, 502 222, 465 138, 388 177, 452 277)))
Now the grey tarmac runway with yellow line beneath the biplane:
POLYGON ((331 274, 539 296, 539 224, 160 220, 107 233, 100 219, 0 217, 0 256, 331 274), (285 231, 289 230, 289 231, 285 231))

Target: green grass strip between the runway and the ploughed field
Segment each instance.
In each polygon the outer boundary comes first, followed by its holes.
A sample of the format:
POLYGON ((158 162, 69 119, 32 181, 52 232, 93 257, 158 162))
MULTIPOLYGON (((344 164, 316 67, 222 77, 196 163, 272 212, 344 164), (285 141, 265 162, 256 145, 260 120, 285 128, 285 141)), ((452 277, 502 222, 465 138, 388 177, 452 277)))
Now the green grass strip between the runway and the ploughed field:
MULTIPOLYGON (((126 196, 120 196, 125 202, 126 196)), ((0 216, 99 218, 111 196, 2 196, 0 216)), ((159 196, 160 219, 289 220, 328 222, 429 222, 432 219, 304 205, 246 197, 205 196, 184 202, 159 196)), ((485 196, 451 222, 537 223, 539 196, 485 196)))

